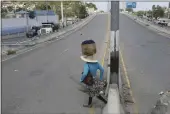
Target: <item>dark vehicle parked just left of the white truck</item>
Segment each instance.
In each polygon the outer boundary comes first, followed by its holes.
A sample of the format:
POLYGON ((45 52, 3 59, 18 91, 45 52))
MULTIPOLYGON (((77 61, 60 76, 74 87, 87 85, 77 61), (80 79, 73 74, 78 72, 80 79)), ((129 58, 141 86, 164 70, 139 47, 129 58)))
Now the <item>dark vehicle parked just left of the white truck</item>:
POLYGON ((38 31, 41 29, 41 27, 33 26, 31 30, 29 30, 26 33, 27 38, 32 38, 34 36, 38 35, 38 31))

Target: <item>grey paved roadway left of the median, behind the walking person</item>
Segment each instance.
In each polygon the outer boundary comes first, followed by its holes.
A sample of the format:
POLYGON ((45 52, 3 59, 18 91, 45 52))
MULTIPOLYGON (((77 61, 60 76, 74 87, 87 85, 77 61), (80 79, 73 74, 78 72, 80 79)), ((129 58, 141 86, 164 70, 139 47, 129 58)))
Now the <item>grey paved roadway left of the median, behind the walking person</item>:
POLYGON ((102 50, 106 28, 107 15, 97 15, 74 34, 3 62, 3 114, 89 113, 82 107, 87 95, 78 91, 79 85, 70 77, 80 78, 80 43, 92 38, 102 50))

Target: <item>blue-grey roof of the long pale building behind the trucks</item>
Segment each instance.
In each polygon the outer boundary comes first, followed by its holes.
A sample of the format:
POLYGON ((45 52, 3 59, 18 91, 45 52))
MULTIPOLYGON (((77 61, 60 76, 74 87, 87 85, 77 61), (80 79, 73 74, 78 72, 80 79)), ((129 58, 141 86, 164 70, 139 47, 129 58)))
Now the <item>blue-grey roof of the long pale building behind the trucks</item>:
POLYGON ((35 15, 37 16, 43 16, 43 15, 56 15, 54 11, 51 10, 35 10, 34 11, 35 15))

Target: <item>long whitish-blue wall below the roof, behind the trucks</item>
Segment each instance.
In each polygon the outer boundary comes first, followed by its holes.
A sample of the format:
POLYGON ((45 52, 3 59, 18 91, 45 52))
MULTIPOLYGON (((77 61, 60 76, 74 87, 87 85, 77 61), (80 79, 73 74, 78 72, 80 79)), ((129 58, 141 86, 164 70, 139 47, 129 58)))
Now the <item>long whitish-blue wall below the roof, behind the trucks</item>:
MULTIPOLYGON (((58 15, 55 16, 37 16, 34 19, 28 18, 28 26, 38 26, 41 25, 42 22, 47 22, 47 18, 49 22, 59 23, 58 15)), ((27 26, 27 19, 24 18, 9 18, 2 19, 2 35, 6 34, 14 34, 16 32, 24 32, 27 26)))

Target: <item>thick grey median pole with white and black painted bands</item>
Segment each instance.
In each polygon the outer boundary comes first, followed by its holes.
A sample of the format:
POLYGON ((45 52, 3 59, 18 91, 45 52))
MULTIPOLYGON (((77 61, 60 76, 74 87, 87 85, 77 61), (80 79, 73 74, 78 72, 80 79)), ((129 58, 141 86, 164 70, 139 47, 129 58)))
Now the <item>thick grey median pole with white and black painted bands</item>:
POLYGON ((110 69, 111 83, 119 86, 119 1, 111 1, 110 69))

